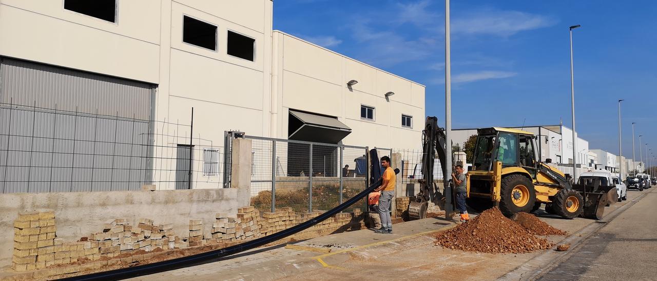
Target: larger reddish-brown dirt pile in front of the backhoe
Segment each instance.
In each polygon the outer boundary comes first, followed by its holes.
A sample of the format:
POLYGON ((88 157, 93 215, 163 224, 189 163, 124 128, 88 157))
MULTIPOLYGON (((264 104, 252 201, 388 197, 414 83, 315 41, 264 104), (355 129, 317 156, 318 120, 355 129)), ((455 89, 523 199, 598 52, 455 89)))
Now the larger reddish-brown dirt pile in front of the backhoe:
POLYGON ((434 237, 436 245, 480 253, 529 253, 553 246, 507 219, 497 207, 434 237))

